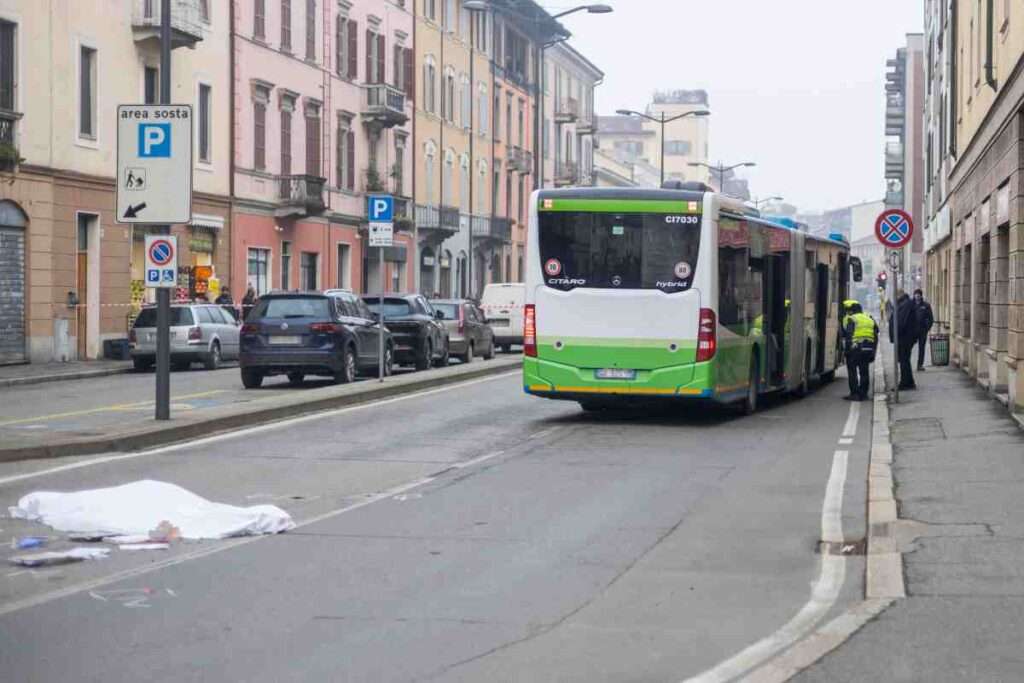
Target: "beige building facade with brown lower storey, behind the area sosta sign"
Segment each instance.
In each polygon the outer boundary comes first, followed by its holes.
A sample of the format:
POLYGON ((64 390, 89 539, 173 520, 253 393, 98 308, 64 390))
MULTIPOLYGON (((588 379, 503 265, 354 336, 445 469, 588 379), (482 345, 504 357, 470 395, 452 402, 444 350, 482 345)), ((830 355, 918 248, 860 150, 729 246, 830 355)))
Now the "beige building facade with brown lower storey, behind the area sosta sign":
MULTIPOLYGON (((229 5, 172 4, 171 96, 195 117, 194 205, 176 225, 177 299, 230 255, 229 5)), ((156 103, 160 3, 0 2, 0 362, 95 358, 146 297, 144 226, 120 224, 118 104, 156 103)))

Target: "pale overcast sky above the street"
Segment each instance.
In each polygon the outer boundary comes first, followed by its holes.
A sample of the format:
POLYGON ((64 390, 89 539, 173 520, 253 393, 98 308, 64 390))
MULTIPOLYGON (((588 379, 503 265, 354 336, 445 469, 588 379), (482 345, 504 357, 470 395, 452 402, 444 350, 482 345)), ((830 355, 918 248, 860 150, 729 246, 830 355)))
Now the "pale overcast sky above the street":
POLYGON ((614 13, 563 19, 606 74, 599 114, 703 88, 710 161, 757 162, 752 194, 802 211, 882 199, 886 59, 923 31, 922 0, 605 2, 614 13))

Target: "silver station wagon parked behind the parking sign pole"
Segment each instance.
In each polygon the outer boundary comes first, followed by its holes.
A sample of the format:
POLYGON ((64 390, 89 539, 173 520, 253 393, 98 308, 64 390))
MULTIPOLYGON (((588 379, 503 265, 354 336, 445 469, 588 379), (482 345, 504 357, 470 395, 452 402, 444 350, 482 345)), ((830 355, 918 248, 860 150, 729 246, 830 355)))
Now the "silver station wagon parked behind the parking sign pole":
MULTIPOLYGON (((225 358, 239 357, 239 323, 213 304, 171 306, 171 366, 187 370, 202 362, 216 370, 225 358)), ((147 370, 157 360, 157 307, 139 311, 128 335, 129 353, 135 370, 147 370)))

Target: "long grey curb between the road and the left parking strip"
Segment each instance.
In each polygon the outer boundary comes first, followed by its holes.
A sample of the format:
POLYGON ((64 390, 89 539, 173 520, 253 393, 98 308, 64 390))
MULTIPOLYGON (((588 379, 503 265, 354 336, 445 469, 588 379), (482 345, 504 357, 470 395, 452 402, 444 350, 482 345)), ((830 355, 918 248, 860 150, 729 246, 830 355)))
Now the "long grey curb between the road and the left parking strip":
MULTIPOLYGON (((175 422, 151 425, 134 432, 126 432, 113 436, 83 438, 74 441, 44 443, 15 449, 0 449, 0 463, 10 463, 23 460, 40 460, 46 458, 62 458, 66 456, 89 456, 109 452, 131 452, 143 449, 169 445, 187 441, 199 436, 230 431, 242 427, 253 427, 260 424, 285 420, 301 415, 319 413, 339 408, 370 403, 384 398, 417 393, 436 389, 451 384, 458 384, 502 373, 512 372, 521 367, 521 361, 503 362, 489 361, 457 367, 456 372, 437 374, 437 371, 402 376, 396 383, 378 384, 376 382, 345 385, 352 387, 343 393, 327 396, 314 396, 305 400, 296 400, 294 395, 270 399, 268 405, 252 405, 239 403, 225 409, 224 415, 218 415, 196 420, 194 422, 175 422), (463 370, 465 368, 465 370, 463 370), (407 379, 408 377, 408 379, 407 379)), ((443 373, 443 371, 441 371, 443 373)), ((332 387, 337 390, 337 387, 332 387)))

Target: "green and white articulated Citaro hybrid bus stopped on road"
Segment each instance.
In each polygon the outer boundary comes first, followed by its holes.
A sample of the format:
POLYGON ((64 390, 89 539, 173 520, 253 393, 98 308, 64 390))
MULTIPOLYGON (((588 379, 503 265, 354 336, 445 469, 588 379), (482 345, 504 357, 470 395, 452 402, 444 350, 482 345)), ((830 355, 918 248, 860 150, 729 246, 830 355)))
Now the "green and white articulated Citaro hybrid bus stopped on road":
POLYGON ((848 244, 676 187, 534 193, 527 393, 585 410, 657 399, 753 413, 762 394, 835 378, 851 266, 860 278, 848 244))

